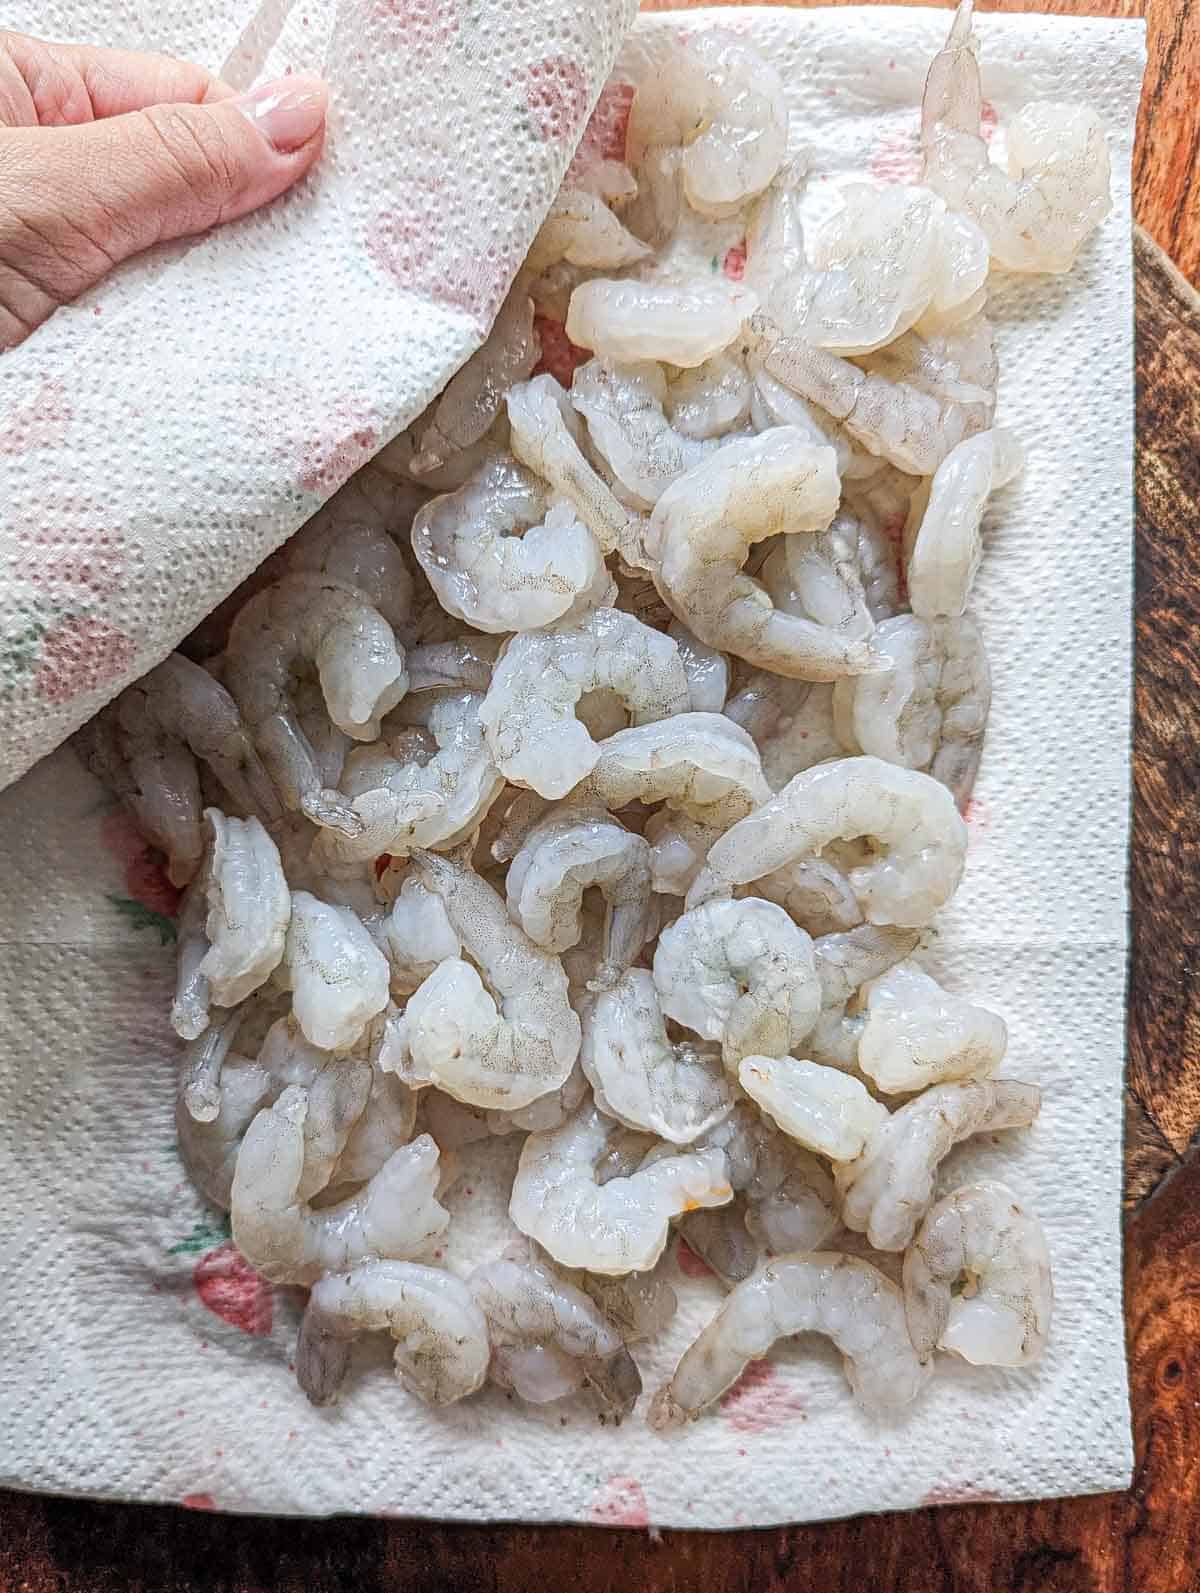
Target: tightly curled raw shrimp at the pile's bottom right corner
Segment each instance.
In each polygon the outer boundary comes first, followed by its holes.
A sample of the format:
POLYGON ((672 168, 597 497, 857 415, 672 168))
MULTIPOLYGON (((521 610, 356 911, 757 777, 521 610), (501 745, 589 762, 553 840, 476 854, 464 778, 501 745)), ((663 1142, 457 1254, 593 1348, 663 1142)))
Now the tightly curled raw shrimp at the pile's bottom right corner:
POLYGON ((990 1179, 934 1204, 904 1257, 908 1332, 977 1367, 1028 1367, 1045 1349, 1053 1282, 1042 1225, 990 1179))

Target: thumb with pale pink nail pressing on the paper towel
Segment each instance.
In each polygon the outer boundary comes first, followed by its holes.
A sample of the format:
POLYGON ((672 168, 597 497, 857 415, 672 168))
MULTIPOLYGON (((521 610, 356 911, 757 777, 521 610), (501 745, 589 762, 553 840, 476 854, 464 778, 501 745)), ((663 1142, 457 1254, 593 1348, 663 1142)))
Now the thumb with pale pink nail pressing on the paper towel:
POLYGON ((328 96, 280 78, 207 105, 0 132, 0 347, 129 255, 258 209, 312 166, 328 96))

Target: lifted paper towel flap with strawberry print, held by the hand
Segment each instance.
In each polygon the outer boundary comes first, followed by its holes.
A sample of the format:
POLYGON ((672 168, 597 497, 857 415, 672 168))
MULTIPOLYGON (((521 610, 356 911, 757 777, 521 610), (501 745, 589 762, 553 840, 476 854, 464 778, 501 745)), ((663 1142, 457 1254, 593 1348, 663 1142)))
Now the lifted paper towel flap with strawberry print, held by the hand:
POLYGON ((5 25, 333 86, 295 193, 0 368, 0 785, 158 663, 480 342, 636 0, 16 0, 5 25))

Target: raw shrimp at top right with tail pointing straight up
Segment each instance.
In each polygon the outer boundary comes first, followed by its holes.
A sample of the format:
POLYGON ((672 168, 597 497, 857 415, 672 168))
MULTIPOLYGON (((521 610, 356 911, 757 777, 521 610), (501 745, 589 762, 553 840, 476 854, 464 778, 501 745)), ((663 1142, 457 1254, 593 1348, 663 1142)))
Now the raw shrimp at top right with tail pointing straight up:
POLYGON ((983 231, 1009 271, 1069 271, 1112 209, 1100 116, 1087 105, 1037 100, 1009 123, 1004 172, 982 134, 971 0, 955 14, 921 102, 924 182, 983 231))

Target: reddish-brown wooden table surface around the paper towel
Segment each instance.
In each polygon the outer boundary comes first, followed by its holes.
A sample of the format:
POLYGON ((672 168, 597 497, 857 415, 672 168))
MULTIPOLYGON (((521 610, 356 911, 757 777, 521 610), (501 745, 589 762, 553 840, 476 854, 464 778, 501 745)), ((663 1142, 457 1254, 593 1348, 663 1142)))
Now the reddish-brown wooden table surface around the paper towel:
MULTIPOLYGON (((980 10, 1025 10, 980 0, 980 10)), ((1200 279, 1200 0, 1045 0, 1149 19, 1136 212, 1200 279)), ((1127 1494, 757 1532, 265 1521, 0 1494, 0 1593, 1184 1593, 1200 1588, 1200 301, 1138 239, 1138 683, 1127 1494)), ((48 1330, 53 1325, 48 1324, 48 1330)), ((406 1459, 398 1458, 402 1464, 406 1459)))

